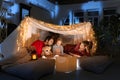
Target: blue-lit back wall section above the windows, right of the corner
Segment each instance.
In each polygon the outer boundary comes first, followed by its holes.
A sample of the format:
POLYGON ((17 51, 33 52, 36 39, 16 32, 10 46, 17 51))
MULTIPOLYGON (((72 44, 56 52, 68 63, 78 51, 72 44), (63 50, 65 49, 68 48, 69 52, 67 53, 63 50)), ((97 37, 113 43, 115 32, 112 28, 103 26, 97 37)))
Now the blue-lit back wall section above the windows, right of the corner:
POLYGON ((116 8, 117 12, 120 13, 120 0, 110 0, 110 1, 91 1, 83 4, 73 4, 73 5, 60 5, 58 15, 55 18, 55 23, 60 24, 61 20, 63 20, 69 15, 70 12, 83 10, 86 11, 88 9, 98 9, 100 17, 102 17, 103 8, 116 8))

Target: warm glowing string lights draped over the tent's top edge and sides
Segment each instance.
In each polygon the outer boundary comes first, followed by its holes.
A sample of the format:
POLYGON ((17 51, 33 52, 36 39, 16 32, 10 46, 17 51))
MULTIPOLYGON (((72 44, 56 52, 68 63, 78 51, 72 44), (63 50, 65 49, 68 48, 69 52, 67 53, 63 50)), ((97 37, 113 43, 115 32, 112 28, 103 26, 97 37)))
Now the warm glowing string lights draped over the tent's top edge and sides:
POLYGON ((81 40, 92 41, 93 42, 92 52, 95 53, 96 51, 97 41, 94 36, 95 33, 92 29, 91 23, 84 22, 84 23, 79 23, 74 25, 59 26, 55 24, 46 23, 40 20, 38 21, 30 17, 26 17, 20 24, 19 35, 17 40, 17 44, 20 47, 25 47, 25 42, 27 40, 26 37, 28 35, 28 30, 31 25, 31 22, 33 22, 36 26, 39 26, 39 25, 45 26, 44 30, 47 30, 47 31, 51 30, 52 32, 56 32, 60 34, 68 34, 68 35, 74 35, 74 36, 77 35, 73 39, 74 44, 77 42, 80 42, 81 40), (82 37, 80 34, 82 35, 82 37))

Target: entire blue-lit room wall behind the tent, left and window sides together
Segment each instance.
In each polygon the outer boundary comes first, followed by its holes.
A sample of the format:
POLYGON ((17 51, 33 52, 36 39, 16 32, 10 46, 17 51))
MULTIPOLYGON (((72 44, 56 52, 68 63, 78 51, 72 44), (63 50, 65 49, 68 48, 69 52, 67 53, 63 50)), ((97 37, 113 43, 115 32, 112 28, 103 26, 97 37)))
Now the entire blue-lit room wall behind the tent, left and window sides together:
MULTIPOLYGON (((95 9, 98 8, 102 13, 103 8, 108 8, 108 7, 115 7, 117 9, 117 12, 120 13, 120 1, 119 0, 110 0, 110 1, 91 1, 91 2, 86 2, 83 4, 73 4, 73 5, 54 5, 49 3, 47 0, 15 0, 15 3, 12 7, 12 10, 17 8, 17 10, 14 13, 14 16, 11 16, 8 18, 8 20, 16 25, 20 23, 19 21, 19 3, 34 3, 37 6, 30 5, 31 12, 30 16, 34 17, 39 20, 43 20, 46 22, 51 22, 54 24, 61 24, 64 19, 69 15, 69 13, 73 13, 74 11, 77 10, 84 10, 86 11, 87 9, 95 9), (36 1, 36 2, 35 2, 36 1)), ((100 15, 102 17, 102 14, 100 15)))

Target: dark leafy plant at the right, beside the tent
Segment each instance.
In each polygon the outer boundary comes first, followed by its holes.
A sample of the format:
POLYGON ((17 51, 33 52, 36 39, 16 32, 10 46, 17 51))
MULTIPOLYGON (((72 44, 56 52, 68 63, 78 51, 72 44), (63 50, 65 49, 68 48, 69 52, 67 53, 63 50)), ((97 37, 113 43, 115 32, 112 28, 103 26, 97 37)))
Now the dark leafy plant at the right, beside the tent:
MULTIPOLYGON (((120 38, 120 15, 110 17, 110 20, 102 19, 98 27, 94 27, 98 41, 98 51, 109 53, 119 50, 120 38)), ((119 51, 118 51, 119 52, 119 51)), ((111 55, 111 54, 110 54, 111 55)))

